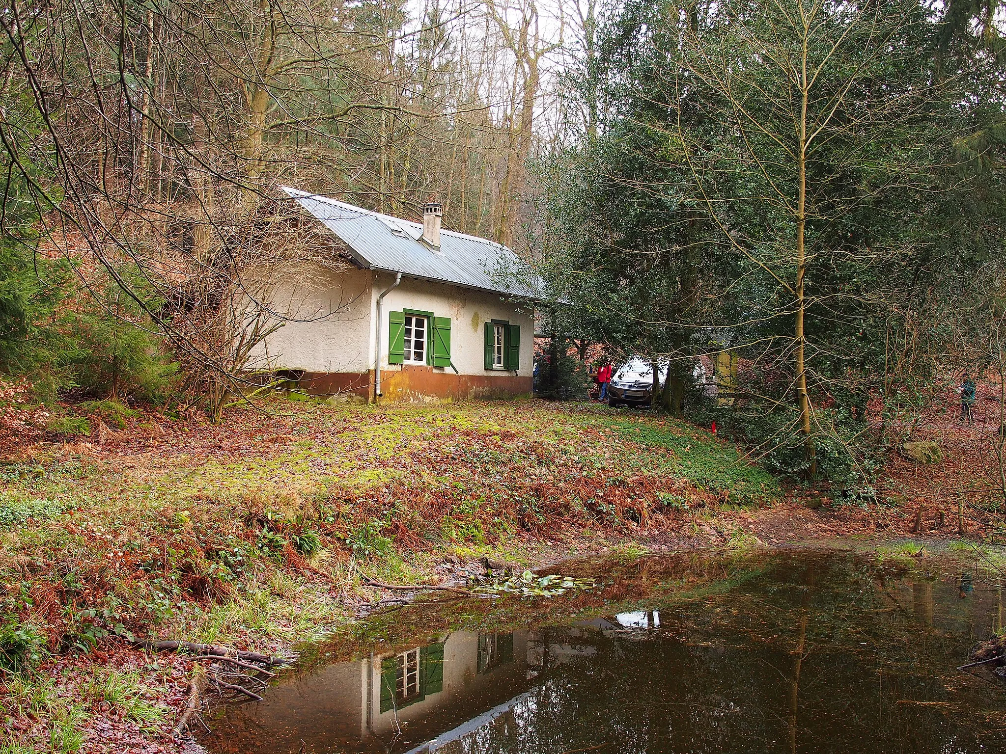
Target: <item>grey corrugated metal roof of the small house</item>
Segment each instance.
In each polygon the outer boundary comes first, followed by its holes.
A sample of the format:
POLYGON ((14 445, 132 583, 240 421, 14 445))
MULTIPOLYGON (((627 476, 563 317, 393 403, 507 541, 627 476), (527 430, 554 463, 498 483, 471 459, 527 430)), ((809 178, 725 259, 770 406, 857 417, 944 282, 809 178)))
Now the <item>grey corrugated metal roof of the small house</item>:
POLYGON ((441 230, 440 249, 418 239, 423 225, 354 207, 335 199, 281 187, 349 247, 360 266, 401 272, 439 282, 530 299, 539 294, 537 276, 506 246, 474 235, 441 230), (518 270, 507 275, 504 270, 518 270), (512 279, 519 276, 521 281, 512 279), (527 285, 524 280, 532 280, 527 285))

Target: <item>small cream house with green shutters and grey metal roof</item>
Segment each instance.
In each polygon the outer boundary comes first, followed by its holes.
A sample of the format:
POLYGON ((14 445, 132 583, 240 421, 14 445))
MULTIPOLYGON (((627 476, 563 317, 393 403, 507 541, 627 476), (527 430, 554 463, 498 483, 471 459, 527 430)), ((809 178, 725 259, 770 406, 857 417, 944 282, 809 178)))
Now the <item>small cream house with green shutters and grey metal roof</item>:
POLYGON ((509 248, 441 228, 439 204, 420 223, 283 190, 346 264, 304 266, 274 294, 285 321, 257 364, 311 394, 371 401, 531 392, 534 278, 514 274, 509 248))

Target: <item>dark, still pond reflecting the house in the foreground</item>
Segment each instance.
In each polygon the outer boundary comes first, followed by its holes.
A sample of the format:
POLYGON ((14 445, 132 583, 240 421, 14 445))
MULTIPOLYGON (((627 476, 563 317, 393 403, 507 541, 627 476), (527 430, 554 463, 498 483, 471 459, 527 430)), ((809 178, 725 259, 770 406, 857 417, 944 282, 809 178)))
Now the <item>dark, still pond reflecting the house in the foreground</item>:
POLYGON ((413 604, 227 705, 217 752, 1004 752, 1006 686, 956 670, 994 579, 844 552, 563 564, 598 587, 413 604))

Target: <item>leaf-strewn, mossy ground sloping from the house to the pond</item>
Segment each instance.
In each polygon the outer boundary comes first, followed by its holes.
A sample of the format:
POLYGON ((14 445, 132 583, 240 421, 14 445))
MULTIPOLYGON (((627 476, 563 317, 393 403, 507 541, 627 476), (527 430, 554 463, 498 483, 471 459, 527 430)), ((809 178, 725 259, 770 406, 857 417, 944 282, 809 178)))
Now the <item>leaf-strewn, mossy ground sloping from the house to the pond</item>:
POLYGON ((193 664, 131 639, 283 654, 402 597, 368 581, 463 585, 483 557, 534 567, 849 537, 917 554, 1002 531, 976 504, 995 432, 957 424, 952 396, 914 435, 942 460, 891 454, 876 499, 854 504, 643 411, 270 408, 209 425, 93 404, 90 436, 0 465, 0 665, 20 668, 0 676, 0 753, 183 751, 172 729, 193 664))

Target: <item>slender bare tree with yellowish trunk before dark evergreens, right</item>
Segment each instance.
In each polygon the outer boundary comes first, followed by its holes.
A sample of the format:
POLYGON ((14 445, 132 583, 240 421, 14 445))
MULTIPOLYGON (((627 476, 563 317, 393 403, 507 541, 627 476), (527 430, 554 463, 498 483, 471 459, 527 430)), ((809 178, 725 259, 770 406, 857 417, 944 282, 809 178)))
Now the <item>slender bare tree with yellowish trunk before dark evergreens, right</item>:
POLYGON ((774 358, 791 365, 810 476, 822 429, 812 388, 825 390, 826 378, 810 366, 822 354, 807 318, 812 308, 828 316, 840 309, 840 297, 812 293, 815 270, 906 258, 910 240, 836 247, 829 239, 870 202, 931 190, 939 167, 917 143, 903 141, 941 96, 912 60, 901 59, 913 54, 913 30, 926 21, 910 3, 882 12, 828 0, 728 3, 683 44, 676 90, 684 100, 703 89, 712 125, 696 130, 679 119, 676 141, 719 242, 775 289, 762 316, 792 318, 792 335, 780 336, 774 358), (881 67, 888 74, 878 86, 881 67), (874 152, 895 143, 896 154, 874 152), (842 176, 856 173, 868 182, 845 185, 842 176))

